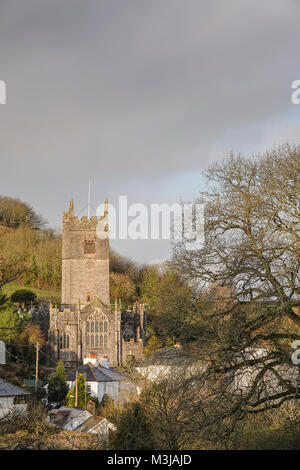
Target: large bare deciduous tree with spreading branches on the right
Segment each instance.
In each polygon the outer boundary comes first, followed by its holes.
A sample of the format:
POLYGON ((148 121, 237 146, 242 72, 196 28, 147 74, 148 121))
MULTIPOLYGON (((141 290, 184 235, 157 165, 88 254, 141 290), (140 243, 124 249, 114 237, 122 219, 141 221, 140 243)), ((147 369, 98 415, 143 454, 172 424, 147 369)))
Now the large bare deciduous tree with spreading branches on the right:
POLYGON ((291 362, 300 339, 300 147, 231 155, 206 176, 205 246, 177 244, 173 265, 197 285, 207 322, 195 348, 215 403, 207 426, 228 430, 246 414, 300 397, 291 362))

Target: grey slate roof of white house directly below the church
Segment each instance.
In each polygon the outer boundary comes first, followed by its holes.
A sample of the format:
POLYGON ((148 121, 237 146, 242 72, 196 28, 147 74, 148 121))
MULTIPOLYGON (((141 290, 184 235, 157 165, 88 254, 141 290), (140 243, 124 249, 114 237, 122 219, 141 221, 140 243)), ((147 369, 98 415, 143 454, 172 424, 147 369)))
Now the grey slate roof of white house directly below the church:
POLYGON ((90 362, 77 367, 67 374, 68 382, 75 382, 76 371, 86 377, 87 382, 121 382, 128 380, 125 375, 115 372, 112 368, 103 366, 94 366, 90 362))

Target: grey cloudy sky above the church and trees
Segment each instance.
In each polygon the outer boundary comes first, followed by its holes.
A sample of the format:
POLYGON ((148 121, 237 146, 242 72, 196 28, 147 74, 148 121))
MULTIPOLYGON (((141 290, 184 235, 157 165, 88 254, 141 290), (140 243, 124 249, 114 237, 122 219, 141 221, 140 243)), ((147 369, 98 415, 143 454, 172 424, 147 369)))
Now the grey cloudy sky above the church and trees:
POLYGON ((0 0, 0 194, 59 226, 89 176, 94 207, 190 200, 229 151, 299 142, 299 20, 298 0, 0 0))

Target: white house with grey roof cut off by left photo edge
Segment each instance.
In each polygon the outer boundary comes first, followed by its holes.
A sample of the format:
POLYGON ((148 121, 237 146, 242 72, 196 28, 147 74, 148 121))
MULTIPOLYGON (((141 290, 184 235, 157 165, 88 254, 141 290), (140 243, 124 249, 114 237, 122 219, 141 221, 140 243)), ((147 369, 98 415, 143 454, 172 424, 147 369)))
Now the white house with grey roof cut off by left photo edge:
POLYGON ((0 419, 10 413, 24 413, 29 392, 0 379, 0 419))

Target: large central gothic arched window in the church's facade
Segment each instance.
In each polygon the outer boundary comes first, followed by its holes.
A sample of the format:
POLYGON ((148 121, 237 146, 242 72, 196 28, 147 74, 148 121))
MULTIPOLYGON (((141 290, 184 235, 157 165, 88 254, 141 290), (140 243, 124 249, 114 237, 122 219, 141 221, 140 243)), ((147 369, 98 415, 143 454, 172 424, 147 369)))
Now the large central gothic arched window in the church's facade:
POLYGON ((107 348, 108 318, 104 313, 91 313, 85 322, 86 346, 88 348, 107 348))

